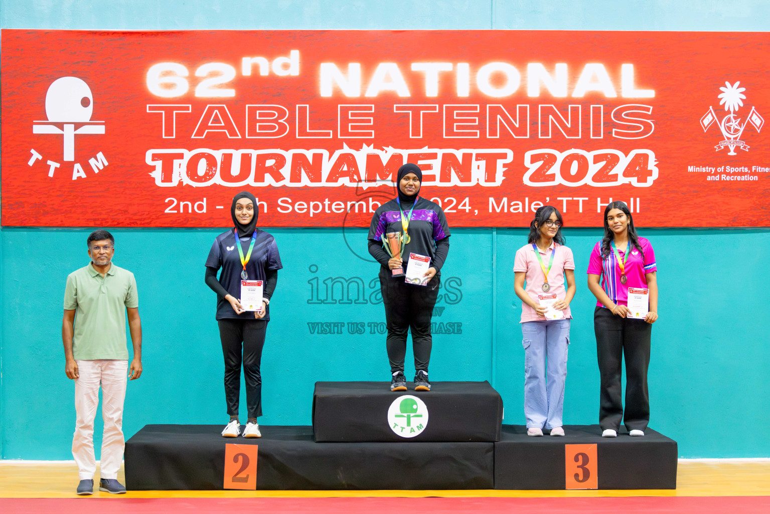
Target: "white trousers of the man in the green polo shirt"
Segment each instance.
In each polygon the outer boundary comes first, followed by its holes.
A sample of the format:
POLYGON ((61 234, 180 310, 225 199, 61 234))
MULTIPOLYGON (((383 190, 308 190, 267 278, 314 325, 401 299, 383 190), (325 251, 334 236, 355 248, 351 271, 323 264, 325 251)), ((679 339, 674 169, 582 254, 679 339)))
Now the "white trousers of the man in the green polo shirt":
POLYGON ((126 380, 129 361, 75 361, 79 378, 75 378, 75 435, 72 437, 72 456, 78 465, 81 480, 94 478, 94 418, 99 406, 99 385, 102 386, 102 458, 99 476, 117 479, 123 460, 123 400, 126 398, 126 380))

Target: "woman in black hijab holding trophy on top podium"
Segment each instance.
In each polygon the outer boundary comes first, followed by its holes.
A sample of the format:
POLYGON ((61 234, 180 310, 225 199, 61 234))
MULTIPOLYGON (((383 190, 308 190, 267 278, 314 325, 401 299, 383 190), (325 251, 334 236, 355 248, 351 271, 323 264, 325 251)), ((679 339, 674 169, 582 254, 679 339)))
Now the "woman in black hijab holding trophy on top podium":
POLYGON ((407 390, 403 365, 410 328, 414 390, 430 391, 430 317, 438 297, 441 267, 449 254, 450 233, 441 207, 418 196, 422 179, 416 164, 401 166, 398 196, 375 211, 369 229, 369 253, 381 264, 391 391, 407 390))

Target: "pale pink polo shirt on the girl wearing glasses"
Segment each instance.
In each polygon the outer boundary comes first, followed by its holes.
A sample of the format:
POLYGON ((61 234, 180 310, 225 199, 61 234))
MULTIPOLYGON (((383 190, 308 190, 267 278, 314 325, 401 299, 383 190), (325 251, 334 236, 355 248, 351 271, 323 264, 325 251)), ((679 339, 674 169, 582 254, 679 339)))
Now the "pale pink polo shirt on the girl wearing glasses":
MULTIPOLYGON (((551 248, 554 247, 556 247, 554 253, 554 265, 551 266, 551 271, 548 272, 548 285, 551 286, 551 290, 548 291, 547 294, 555 293, 560 300, 563 300, 564 297, 567 297, 567 289, 564 287, 564 270, 574 270, 575 263, 572 258, 572 250, 562 244, 551 242, 551 247, 549 247, 547 252, 538 248, 543 264, 545 264, 545 269, 548 269, 549 259, 551 258, 551 248)), ((514 271, 523 271, 526 273, 526 275, 524 275, 524 277, 526 277, 524 291, 527 291, 527 294, 529 294, 532 300, 537 304, 539 303, 537 295, 545 294, 542 290, 545 277, 543 275, 543 268, 541 268, 540 263, 537 261, 537 256, 534 252, 535 250, 532 248, 531 244, 527 244, 516 250, 514 271)), ((572 317, 570 314, 570 307, 564 309, 564 317, 572 317)), ((545 317, 538 316, 537 311, 532 307, 521 302, 521 323, 524 323, 524 321, 546 320, 545 317)))

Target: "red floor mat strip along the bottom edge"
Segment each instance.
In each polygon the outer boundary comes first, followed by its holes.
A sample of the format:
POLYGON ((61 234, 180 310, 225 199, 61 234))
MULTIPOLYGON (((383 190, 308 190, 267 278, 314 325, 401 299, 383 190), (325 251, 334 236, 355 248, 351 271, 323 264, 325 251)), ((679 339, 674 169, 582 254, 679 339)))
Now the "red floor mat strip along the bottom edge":
POLYGON ((0 499, 4 514, 756 514, 770 496, 631 498, 159 498, 0 499))

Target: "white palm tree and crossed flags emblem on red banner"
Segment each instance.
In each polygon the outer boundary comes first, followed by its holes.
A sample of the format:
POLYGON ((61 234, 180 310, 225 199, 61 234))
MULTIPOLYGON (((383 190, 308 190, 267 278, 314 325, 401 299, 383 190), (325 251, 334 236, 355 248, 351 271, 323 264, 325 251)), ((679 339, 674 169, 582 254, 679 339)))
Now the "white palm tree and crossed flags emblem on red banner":
POLYGON ((724 105, 725 112, 729 113, 722 118, 721 121, 719 121, 717 113, 714 112, 714 108, 711 106, 708 107, 708 111, 701 117, 701 127, 703 127, 704 132, 708 130, 708 127, 713 123, 717 122, 723 139, 715 148, 719 151, 727 146, 730 149, 728 155, 736 155, 736 146, 745 152, 748 152, 748 145, 741 139, 746 125, 750 123, 756 131, 759 132, 765 124, 765 119, 759 115, 755 107, 752 107, 752 110, 748 113, 748 116, 746 116, 743 122, 741 121, 741 118, 738 117, 738 109, 743 106, 743 100, 746 99, 746 96, 743 94, 746 88, 738 87, 740 85, 741 82, 735 82, 735 84, 725 82, 725 86, 719 88, 721 90, 721 93, 717 96, 717 98, 720 99, 719 105, 724 105))

